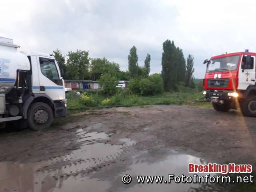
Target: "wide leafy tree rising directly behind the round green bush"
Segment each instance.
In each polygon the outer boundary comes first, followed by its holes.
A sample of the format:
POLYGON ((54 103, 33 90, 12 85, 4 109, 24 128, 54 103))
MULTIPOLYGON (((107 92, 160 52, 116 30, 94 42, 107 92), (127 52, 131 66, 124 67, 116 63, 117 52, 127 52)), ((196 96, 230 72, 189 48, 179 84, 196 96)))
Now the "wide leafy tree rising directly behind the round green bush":
POLYGON ((98 80, 102 74, 108 73, 116 76, 120 73, 120 66, 115 62, 109 62, 106 58, 96 58, 91 60, 91 79, 98 80))

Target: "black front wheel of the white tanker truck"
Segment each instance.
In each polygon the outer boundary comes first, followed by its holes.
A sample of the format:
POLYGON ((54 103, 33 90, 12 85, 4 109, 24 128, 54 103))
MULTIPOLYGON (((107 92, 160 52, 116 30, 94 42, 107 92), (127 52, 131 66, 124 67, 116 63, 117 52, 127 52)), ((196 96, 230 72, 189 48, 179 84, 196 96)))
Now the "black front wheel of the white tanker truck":
POLYGON ((45 103, 33 103, 28 108, 28 126, 35 131, 50 127, 53 120, 52 109, 45 103))

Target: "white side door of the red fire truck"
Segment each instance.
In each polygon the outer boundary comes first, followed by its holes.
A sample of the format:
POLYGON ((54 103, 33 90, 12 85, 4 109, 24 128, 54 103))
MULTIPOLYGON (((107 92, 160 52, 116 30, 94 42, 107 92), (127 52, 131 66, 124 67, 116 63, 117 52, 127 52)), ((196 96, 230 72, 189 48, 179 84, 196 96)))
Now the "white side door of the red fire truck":
POLYGON ((255 84, 255 56, 251 56, 250 63, 246 65, 247 55, 243 55, 239 65, 238 89, 246 90, 249 85, 255 84))

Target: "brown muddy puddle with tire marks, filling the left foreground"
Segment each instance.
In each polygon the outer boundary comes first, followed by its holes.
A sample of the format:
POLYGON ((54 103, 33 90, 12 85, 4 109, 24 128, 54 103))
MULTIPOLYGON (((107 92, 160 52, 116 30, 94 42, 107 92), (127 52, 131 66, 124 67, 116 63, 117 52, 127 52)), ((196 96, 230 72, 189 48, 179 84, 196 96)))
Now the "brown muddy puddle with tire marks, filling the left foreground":
POLYGON ((97 165, 109 166, 135 142, 125 138, 120 140, 123 144, 108 144, 108 134, 83 129, 77 130, 77 136, 81 146, 65 156, 28 164, 0 163, 0 192, 104 191, 109 188, 110 182, 85 175, 97 165))

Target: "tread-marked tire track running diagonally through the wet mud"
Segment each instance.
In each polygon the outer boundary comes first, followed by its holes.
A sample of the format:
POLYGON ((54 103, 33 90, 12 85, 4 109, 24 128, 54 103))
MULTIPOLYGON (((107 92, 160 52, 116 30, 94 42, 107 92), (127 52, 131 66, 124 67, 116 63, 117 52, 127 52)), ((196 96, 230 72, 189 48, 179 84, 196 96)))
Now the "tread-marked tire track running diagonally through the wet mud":
POLYGON ((48 174, 55 180, 78 175, 84 177, 111 165, 127 164, 130 157, 137 153, 134 150, 136 142, 127 138, 112 144, 112 134, 108 136, 104 132, 88 132, 83 129, 77 130, 77 136, 77 141, 81 143, 78 149, 65 156, 46 160, 46 166, 38 168, 36 174, 48 174))

